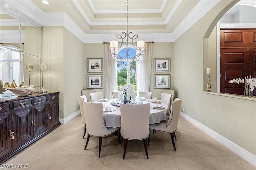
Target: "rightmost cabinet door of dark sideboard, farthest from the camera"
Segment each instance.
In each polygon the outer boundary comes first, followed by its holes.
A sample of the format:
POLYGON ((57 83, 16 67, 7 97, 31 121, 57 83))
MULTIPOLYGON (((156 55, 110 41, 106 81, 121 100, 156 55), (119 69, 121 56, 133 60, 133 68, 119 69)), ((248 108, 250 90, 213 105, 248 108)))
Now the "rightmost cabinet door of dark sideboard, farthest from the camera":
POLYGON ((59 102, 58 100, 52 100, 48 102, 48 114, 51 119, 48 119, 48 127, 52 127, 60 124, 59 122, 59 102))

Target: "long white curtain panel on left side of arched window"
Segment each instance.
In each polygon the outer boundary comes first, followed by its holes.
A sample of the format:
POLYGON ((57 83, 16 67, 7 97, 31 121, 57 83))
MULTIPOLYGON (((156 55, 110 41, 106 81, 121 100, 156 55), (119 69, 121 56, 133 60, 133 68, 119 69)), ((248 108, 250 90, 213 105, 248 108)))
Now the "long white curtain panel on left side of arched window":
POLYGON ((117 67, 116 60, 112 58, 110 45, 105 43, 105 98, 112 98, 112 92, 117 91, 117 67))

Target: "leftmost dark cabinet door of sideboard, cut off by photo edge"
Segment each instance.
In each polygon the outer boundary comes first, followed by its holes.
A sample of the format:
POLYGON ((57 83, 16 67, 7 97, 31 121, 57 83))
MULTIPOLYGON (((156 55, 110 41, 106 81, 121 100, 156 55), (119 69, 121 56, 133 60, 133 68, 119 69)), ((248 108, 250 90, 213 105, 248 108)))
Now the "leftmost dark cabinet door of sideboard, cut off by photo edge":
POLYGON ((11 112, 0 113, 0 154, 1 156, 6 155, 12 150, 11 147, 11 112))

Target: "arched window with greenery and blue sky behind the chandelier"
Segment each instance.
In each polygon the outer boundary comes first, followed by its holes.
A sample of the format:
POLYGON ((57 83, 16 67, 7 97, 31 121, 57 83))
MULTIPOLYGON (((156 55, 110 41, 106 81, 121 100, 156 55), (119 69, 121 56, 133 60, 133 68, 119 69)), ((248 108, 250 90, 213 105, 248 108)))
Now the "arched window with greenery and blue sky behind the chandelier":
MULTIPOLYGON (((122 58, 126 57, 126 45, 118 51, 118 55, 122 58)), ((136 55, 136 50, 132 47, 128 47, 128 55, 130 57, 136 55)), ((117 64, 117 86, 118 91, 121 86, 132 84, 136 90, 136 61, 132 62, 132 59, 125 59, 123 63, 120 61, 116 62, 117 64)))

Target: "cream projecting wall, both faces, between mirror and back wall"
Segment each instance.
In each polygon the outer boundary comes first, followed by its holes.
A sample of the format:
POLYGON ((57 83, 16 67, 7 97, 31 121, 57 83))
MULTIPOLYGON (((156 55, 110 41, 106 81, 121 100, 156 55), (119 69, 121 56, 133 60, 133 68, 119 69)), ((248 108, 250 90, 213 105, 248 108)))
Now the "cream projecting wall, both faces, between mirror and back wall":
POLYGON ((85 81, 84 43, 63 26, 45 26, 45 51, 45 89, 60 92, 63 119, 80 109, 78 97, 85 81))

